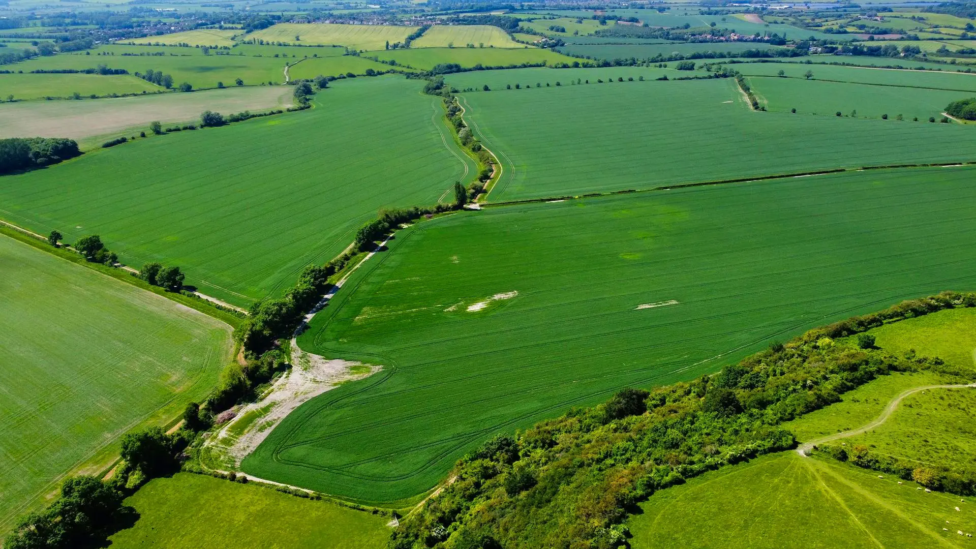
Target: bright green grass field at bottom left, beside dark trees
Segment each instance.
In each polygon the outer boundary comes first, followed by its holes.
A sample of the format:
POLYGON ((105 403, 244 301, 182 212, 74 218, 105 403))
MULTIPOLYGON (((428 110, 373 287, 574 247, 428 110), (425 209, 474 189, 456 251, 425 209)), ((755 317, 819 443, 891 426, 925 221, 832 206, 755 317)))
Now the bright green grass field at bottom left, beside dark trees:
POLYGON ((386 517, 190 473, 155 479, 126 504, 140 518, 111 537, 117 549, 382 549, 389 535, 386 517))

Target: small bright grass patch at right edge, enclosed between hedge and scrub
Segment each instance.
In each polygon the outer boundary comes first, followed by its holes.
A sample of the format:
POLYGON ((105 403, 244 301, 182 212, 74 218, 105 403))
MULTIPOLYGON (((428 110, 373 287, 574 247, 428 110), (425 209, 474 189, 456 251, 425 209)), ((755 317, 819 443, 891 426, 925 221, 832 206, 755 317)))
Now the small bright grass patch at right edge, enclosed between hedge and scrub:
POLYGON ((957 366, 976 366, 976 311, 953 309, 874 328, 878 347, 896 353, 910 349, 957 366))

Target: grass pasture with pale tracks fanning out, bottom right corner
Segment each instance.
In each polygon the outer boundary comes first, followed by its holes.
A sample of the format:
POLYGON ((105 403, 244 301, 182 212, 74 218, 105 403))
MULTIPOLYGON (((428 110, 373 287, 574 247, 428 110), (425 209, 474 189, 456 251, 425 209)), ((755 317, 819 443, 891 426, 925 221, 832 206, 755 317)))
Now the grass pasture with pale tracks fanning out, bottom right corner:
POLYGON ((630 519, 630 546, 776 549, 797 540, 821 549, 972 545, 956 533, 976 530, 972 504, 897 481, 795 452, 764 456, 656 492, 630 519))

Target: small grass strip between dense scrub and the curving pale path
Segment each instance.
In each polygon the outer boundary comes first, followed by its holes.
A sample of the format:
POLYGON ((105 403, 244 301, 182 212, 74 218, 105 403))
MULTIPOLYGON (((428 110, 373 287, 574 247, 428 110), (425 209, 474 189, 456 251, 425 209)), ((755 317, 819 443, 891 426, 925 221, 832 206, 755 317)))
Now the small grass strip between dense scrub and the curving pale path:
POLYGON ((882 375, 844 393, 842 401, 798 417, 783 424, 783 427, 790 430, 797 441, 806 443, 841 431, 850 431, 873 421, 902 391, 945 383, 945 379, 929 372, 894 372, 891 375, 882 375))

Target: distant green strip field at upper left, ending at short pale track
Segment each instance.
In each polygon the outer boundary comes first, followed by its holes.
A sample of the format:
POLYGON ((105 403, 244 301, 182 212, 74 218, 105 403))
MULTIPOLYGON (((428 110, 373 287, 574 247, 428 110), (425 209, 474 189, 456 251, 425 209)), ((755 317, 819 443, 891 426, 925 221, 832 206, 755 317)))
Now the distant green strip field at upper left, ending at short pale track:
MULTIPOLYGON (((172 48, 182 52, 187 48, 172 48)), ((195 49, 195 48, 194 48, 195 49)), ((130 73, 145 72, 146 69, 161 70, 171 74, 175 85, 189 82, 194 88, 216 88, 218 82, 231 85, 235 78, 241 78, 245 84, 253 85, 264 82, 284 82, 285 60, 274 58, 256 58, 247 56, 79 56, 58 54, 51 57, 34 58, 19 63, 5 65, 8 69, 27 72, 37 68, 94 68, 100 63, 109 68, 125 68, 130 73)), ((291 63, 290 61, 287 63, 291 63)), ((2 74, 0 76, 10 76, 2 74)), ((30 76, 42 76, 31 74, 30 76)), ((76 76, 76 74, 56 74, 55 76, 76 76)), ((105 76, 99 76, 105 78, 105 76)), ((137 79, 135 76, 129 78, 137 79)), ((150 85, 151 84, 146 84, 150 85)), ((153 89, 158 87, 153 86, 153 89)))

